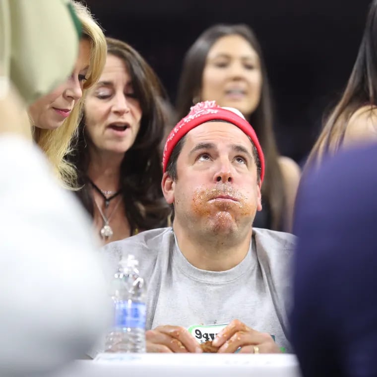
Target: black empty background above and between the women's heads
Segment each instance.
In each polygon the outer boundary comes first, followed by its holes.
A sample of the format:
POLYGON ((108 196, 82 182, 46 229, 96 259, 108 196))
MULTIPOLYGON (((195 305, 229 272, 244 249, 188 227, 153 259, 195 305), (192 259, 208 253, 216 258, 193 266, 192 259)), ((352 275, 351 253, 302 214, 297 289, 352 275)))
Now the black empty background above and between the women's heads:
POLYGON ((208 26, 247 23, 264 52, 280 152, 300 162, 346 85, 369 0, 87 0, 108 36, 152 65, 174 103, 185 52, 208 26))

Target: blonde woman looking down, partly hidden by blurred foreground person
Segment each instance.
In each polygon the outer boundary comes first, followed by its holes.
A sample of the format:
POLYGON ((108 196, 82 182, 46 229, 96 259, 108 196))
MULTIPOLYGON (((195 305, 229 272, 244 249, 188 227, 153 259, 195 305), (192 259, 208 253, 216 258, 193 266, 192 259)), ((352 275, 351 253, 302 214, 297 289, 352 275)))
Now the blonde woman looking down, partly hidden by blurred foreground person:
POLYGON ((77 1, 72 3, 82 24, 79 54, 72 74, 52 93, 29 107, 34 141, 66 187, 75 186, 75 170, 63 157, 81 119, 85 92, 98 81, 107 53, 105 36, 89 9, 77 1))

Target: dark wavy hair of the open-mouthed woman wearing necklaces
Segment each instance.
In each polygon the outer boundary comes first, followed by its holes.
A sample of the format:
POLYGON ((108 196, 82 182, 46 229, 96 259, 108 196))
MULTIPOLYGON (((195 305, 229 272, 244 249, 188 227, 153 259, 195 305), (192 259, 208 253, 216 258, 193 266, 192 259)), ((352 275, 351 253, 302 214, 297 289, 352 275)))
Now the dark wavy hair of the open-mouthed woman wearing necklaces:
MULTIPOLYGON (((132 235, 136 228, 147 230, 166 226, 170 214, 170 206, 161 190, 160 143, 164 136, 166 114, 163 100, 166 96, 158 77, 137 51, 123 41, 113 38, 106 40, 108 55, 116 56, 125 62, 142 111, 139 132, 121 164, 120 187, 132 235)), ((90 142, 85 131, 84 114, 76 145, 67 159, 76 167, 77 184, 82 187, 76 194, 93 216, 93 195, 87 177, 90 163, 87 143, 90 142)))

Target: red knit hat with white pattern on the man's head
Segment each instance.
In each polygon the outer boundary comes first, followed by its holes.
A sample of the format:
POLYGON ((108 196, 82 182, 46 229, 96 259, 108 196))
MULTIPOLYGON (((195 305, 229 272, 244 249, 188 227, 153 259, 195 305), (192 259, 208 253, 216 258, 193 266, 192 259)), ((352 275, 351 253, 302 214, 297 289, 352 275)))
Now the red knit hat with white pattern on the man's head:
MULTIPOLYGON (((237 111, 237 110, 235 110, 237 111)), ((264 156, 262 148, 256 137, 254 129, 245 118, 236 114, 232 110, 222 108, 216 105, 215 101, 199 102, 195 106, 191 107, 188 115, 183 118, 178 124, 171 130, 168 138, 166 139, 164 154, 162 157, 162 166, 164 173, 166 172, 170 155, 173 152, 174 147, 184 137, 189 130, 200 126, 203 123, 209 121, 225 121, 239 127, 250 138, 255 145, 260 161, 260 182, 263 182, 264 177, 264 156)))

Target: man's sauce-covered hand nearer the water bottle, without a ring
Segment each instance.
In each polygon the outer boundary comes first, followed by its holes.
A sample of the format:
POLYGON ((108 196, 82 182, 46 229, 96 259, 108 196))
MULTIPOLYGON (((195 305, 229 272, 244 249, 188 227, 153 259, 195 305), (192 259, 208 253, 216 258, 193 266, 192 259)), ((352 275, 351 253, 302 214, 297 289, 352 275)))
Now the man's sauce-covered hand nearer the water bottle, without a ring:
POLYGON ((197 352, 201 348, 184 327, 158 326, 145 333, 147 352, 197 352))

